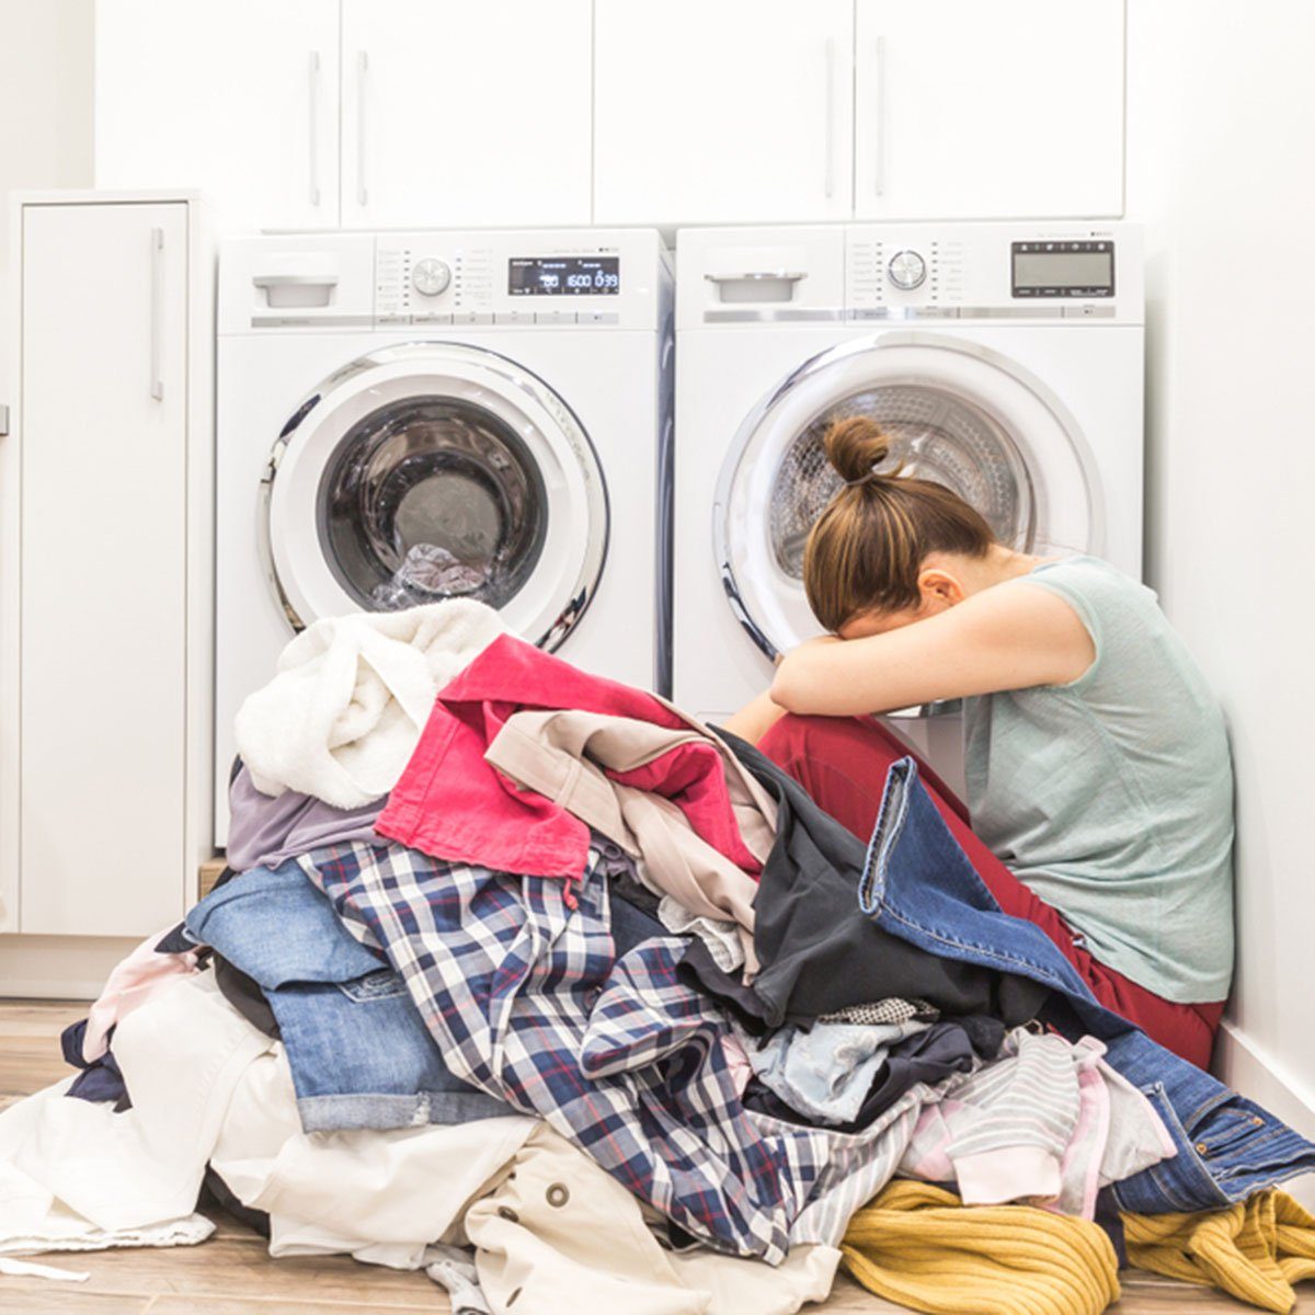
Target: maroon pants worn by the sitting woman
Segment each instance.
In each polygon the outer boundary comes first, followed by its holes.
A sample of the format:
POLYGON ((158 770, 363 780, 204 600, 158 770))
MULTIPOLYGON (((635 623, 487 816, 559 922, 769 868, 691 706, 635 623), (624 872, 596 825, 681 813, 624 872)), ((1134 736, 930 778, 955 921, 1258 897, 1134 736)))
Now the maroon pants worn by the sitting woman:
MULTIPOLYGON (((863 840, 876 825, 890 764, 911 752, 880 722, 867 717, 782 717, 763 736, 759 748, 863 840)), ((1060 913, 1032 894, 973 834, 968 810, 944 781, 920 759, 918 769, 940 815, 1001 909, 1036 923, 1106 1009, 1136 1023, 1176 1055, 1206 1068, 1223 1003, 1170 1003, 1093 959, 1074 943, 1073 928, 1060 913)))

